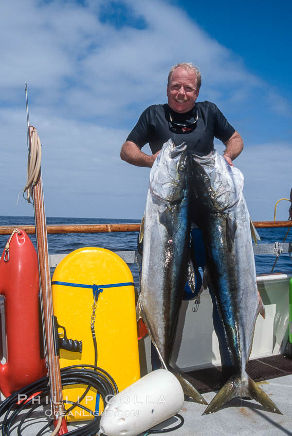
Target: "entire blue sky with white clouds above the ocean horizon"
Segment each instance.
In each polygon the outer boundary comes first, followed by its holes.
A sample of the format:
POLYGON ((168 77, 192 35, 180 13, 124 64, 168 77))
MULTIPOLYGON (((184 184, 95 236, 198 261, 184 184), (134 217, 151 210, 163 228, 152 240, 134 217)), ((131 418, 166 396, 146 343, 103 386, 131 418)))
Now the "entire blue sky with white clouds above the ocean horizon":
MULTIPOLYGON (((198 100, 215 103, 245 149, 253 220, 271 220, 291 182, 291 6, 280 0, 11 0, 0 17, 3 215, 32 215, 26 183, 26 110, 43 145, 48 216, 139 219, 149 169, 122 162, 140 113, 166 102, 169 69, 200 67, 198 100)), ((215 147, 223 152, 220 142, 215 147)), ((144 149, 143 149, 144 150, 144 149)), ((145 152, 150 152, 145 147, 145 152)), ((288 203, 277 219, 286 220, 288 203)))

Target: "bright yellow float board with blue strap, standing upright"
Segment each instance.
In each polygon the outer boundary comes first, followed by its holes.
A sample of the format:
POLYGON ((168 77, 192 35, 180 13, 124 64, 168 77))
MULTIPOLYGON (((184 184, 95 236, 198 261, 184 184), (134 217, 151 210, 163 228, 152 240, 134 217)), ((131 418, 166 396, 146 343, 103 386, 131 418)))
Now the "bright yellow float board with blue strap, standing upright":
MULTIPOLYGON (((109 285, 133 282, 127 264, 116 253, 104 248, 87 247, 64 257, 56 267, 52 282, 83 285, 109 285)), ((102 286, 101 286, 102 288, 102 286)), ((52 284, 54 315, 64 326, 68 339, 82 340, 82 353, 60 350, 60 367, 94 365, 94 344, 90 322, 93 313, 93 289, 52 284)), ((111 374, 119 391, 140 378, 134 286, 104 288, 96 307, 95 333, 97 366, 111 374)), ((63 389, 64 399, 78 401, 84 386, 63 389)), ((96 390, 90 389, 81 401, 96 410, 96 390)), ((69 408, 70 405, 65 406, 69 408)), ((100 399, 99 413, 103 410, 100 399)), ((68 421, 93 419, 94 415, 76 407, 69 412, 68 421)))

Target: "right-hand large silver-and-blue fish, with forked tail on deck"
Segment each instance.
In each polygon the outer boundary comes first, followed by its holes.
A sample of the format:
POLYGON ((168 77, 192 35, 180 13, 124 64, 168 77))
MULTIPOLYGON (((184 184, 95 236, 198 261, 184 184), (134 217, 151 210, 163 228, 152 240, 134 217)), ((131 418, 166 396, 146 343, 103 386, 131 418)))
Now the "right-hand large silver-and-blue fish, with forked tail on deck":
POLYGON ((257 288, 252 235, 257 236, 243 196, 244 178, 215 150, 192 156, 193 206, 203 230, 206 251, 204 281, 216 296, 234 375, 215 395, 205 413, 235 397, 259 401, 269 411, 281 413, 246 373, 255 321, 264 306, 257 288), (207 282, 207 283, 206 283, 207 282))

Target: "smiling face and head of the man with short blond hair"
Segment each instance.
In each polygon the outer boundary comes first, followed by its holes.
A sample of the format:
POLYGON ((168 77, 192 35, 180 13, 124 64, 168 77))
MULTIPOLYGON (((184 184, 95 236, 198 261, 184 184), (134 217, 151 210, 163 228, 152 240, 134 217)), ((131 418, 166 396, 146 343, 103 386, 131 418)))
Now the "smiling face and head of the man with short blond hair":
POLYGON ((198 94, 195 72, 181 67, 176 68, 166 93, 171 109, 179 113, 188 112, 193 109, 198 94))

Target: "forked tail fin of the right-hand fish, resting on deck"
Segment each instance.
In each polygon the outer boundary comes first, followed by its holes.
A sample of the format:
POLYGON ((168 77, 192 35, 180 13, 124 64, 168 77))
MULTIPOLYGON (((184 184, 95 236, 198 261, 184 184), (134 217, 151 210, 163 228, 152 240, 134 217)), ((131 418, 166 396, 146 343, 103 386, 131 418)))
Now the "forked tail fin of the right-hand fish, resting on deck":
POLYGON ((216 412, 220 407, 233 398, 252 398, 258 401, 267 410, 280 413, 278 407, 272 402, 268 395, 248 375, 247 380, 242 381, 241 374, 232 375, 227 383, 215 395, 203 415, 216 412))

